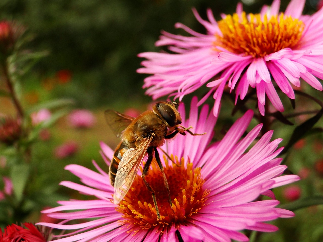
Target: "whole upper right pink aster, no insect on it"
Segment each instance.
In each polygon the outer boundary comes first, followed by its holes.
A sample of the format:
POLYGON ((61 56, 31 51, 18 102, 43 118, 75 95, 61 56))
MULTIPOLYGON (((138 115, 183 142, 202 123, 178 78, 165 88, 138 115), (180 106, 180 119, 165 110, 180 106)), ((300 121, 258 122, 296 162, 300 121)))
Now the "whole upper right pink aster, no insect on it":
POLYGON ((323 9, 301 15, 304 4, 305 0, 292 0, 285 13, 279 13, 280 1, 274 0, 260 14, 248 15, 238 4, 235 14, 223 14, 220 21, 215 21, 210 9, 208 21, 193 9, 206 34, 177 23, 176 28, 192 36, 164 31, 156 42, 172 53, 138 55, 147 60, 137 71, 152 74, 144 80, 146 93, 154 99, 169 95, 181 100, 206 85, 210 90, 198 105, 213 94, 216 116, 226 86, 235 91, 235 102, 239 96, 245 98, 249 86, 255 88, 262 115, 266 96, 278 111, 284 111, 276 85, 291 99, 295 99, 293 88, 300 86, 300 78, 322 91, 317 78, 323 78, 323 9))

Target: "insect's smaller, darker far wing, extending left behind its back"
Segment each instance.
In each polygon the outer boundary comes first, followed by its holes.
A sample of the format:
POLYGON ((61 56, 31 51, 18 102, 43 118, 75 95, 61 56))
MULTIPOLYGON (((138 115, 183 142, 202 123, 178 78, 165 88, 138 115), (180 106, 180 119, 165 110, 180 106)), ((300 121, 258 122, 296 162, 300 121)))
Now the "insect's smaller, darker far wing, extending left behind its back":
POLYGON ((120 137, 122 131, 125 130, 127 126, 135 119, 126 114, 118 113, 117 111, 108 109, 104 113, 105 119, 107 120, 108 125, 111 127, 112 132, 115 136, 120 137))

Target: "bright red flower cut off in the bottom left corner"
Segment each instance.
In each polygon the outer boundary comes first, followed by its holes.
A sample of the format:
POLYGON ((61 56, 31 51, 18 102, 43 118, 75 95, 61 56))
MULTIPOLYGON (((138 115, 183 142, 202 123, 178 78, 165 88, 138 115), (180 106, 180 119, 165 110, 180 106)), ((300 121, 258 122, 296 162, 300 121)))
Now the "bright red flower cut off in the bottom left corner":
POLYGON ((45 242, 44 235, 32 223, 24 223, 23 227, 16 224, 0 229, 1 242, 45 242))

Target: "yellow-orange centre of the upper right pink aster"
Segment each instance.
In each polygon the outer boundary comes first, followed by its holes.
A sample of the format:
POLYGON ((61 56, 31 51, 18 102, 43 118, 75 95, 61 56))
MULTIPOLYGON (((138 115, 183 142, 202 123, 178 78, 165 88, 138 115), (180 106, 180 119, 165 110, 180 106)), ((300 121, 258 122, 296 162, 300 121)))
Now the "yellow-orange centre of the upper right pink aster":
POLYGON ((267 15, 261 19, 260 14, 250 14, 248 20, 246 13, 226 15, 218 21, 222 35, 215 34, 214 48, 227 49, 235 54, 264 57, 284 48, 297 48, 302 37, 304 23, 301 20, 284 16, 283 13, 272 16, 267 15))

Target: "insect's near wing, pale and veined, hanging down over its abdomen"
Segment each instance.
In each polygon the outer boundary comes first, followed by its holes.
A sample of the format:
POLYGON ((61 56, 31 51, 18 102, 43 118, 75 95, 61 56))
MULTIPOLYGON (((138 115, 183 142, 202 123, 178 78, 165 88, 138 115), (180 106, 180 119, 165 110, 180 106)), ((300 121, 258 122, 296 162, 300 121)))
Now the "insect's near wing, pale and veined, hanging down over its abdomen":
POLYGON ((135 149, 131 148, 123 154, 118 166, 116 179, 114 181, 114 204, 119 204, 129 191, 151 140, 152 137, 149 137, 135 149))

